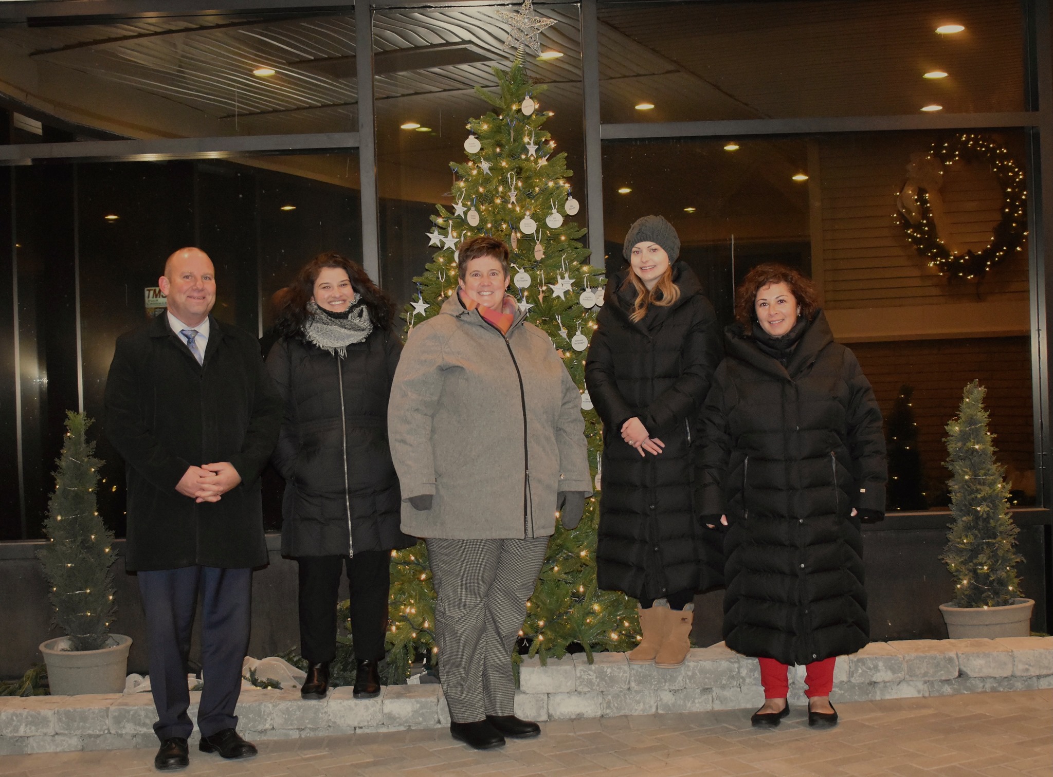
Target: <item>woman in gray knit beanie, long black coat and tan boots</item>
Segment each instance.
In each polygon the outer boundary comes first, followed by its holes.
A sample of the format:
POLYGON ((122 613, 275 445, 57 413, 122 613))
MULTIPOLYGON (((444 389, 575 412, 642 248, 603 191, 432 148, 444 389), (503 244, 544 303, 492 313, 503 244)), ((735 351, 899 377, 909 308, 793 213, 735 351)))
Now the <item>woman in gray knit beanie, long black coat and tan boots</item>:
POLYGON ((680 240, 660 216, 625 237, 585 361, 603 421, 597 580, 639 599, 633 663, 676 666, 691 647, 695 593, 720 582, 717 543, 697 522, 700 412, 720 339, 680 240), (710 545, 706 545, 710 539, 710 545))

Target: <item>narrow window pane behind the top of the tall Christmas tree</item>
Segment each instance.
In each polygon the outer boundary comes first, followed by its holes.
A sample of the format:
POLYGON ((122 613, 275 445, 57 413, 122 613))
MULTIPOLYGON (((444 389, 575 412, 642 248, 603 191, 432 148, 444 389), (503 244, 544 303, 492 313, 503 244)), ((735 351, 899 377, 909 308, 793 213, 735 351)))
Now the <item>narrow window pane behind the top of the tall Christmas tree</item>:
MULTIPOLYGON (((436 203, 453 202, 450 164, 466 159, 465 124, 491 109, 475 87, 495 91, 493 68, 512 64, 514 51, 502 46, 509 25, 497 11, 509 7, 374 15, 381 277, 400 305, 414 293, 414 276, 432 260, 434 248, 424 235, 436 203)), ((540 35, 547 58, 528 49, 524 62, 545 87, 537 96, 538 109, 554 114, 544 128, 558 144, 556 153, 567 152, 574 197, 582 203, 574 218, 584 224, 579 9, 552 4, 535 6, 534 13, 556 23, 540 35)))

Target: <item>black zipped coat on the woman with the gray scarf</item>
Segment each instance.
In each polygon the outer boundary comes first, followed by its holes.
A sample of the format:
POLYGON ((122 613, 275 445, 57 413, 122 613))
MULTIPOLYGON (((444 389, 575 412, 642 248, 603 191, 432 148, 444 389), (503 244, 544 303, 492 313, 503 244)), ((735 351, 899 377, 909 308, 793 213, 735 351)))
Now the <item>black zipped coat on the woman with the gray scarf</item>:
POLYGON ((299 337, 278 340, 266 366, 284 401, 274 465, 285 478, 284 556, 349 556, 409 547, 399 531, 388 399, 402 343, 374 328, 339 358, 299 337))

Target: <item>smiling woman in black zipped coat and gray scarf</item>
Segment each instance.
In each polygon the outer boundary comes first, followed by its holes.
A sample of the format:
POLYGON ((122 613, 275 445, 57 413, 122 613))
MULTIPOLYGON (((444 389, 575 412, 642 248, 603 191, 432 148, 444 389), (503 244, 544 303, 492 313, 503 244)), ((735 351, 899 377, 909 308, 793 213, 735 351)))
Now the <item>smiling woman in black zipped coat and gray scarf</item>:
POLYGON ((336 657, 342 567, 351 587, 354 696, 380 693, 391 551, 401 497, 388 445, 388 398, 402 350, 395 307, 355 262, 321 254, 278 295, 280 339, 266 365, 285 404, 272 458, 285 479, 281 552, 299 564, 300 693, 320 699, 336 657))

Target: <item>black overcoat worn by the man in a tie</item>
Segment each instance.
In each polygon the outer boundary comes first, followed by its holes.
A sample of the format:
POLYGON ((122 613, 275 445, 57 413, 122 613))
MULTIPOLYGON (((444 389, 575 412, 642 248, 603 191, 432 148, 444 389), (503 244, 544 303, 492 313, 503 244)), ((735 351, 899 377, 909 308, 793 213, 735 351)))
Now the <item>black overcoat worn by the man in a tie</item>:
POLYGON ((204 364, 162 313, 121 335, 106 378, 106 437, 127 472, 132 571, 267 561, 260 473, 281 423, 281 400, 247 332, 208 318, 204 364), (218 502, 176 491, 191 464, 230 461, 241 482, 218 502))

